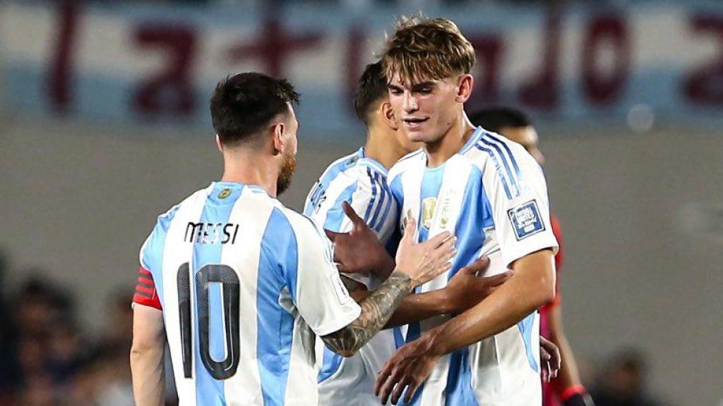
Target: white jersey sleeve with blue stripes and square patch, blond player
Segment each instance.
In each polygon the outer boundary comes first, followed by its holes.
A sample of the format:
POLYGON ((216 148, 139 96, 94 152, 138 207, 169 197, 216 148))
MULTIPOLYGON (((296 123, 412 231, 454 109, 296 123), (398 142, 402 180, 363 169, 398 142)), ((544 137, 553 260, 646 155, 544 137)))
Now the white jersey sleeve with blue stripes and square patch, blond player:
POLYGON ((542 168, 518 144, 497 138, 487 143, 484 190, 505 265, 541 249, 557 252, 542 168))

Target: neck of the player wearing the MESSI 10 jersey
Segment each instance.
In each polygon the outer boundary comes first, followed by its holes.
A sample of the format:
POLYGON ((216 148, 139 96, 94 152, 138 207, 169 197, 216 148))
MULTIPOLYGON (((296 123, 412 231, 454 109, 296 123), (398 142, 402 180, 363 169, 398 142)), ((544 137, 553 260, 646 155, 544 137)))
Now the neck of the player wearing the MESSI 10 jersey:
POLYGON ((240 182, 261 186, 271 197, 276 197, 278 168, 274 160, 263 157, 253 148, 223 151, 223 182, 240 182))

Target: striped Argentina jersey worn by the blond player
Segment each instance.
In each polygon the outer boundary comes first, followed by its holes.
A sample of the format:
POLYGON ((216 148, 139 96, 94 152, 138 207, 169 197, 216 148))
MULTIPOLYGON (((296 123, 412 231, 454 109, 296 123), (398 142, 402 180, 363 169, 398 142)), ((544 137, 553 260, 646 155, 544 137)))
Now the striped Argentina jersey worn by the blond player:
MULTIPOLYGON (((457 236, 452 269, 418 292, 444 288, 455 272, 482 255, 490 259, 484 276, 492 276, 534 251, 557 249, 542 168, 521 145, 481 127, 436 168, 427 168, 424 151, 403 157, 391 168, 389 184, 400 211, 399 228, 414 218, 419 241, 446 230, 457 236)), ((406 340, 446 320, 439 316, 409 324, 406 340)), ((541 390, 535 311, 500 334, 443 356, 410 404, 540 405, 541 390)))

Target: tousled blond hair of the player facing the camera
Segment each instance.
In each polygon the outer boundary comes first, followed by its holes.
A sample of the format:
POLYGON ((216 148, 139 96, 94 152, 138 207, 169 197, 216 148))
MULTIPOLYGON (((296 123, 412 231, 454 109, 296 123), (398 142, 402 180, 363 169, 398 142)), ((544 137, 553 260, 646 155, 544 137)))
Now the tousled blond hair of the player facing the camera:
POLYGON ((446 18, 401 17, 380 55, 388 79, 439 80, 469 74, 474 47, 446 18))

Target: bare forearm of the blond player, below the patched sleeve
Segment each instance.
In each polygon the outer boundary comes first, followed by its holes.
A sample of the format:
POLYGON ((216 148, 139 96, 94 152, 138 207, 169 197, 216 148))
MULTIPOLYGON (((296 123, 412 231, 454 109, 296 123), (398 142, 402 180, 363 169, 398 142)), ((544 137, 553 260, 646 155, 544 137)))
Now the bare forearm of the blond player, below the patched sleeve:
POLYGON ((552 253, 538 251, 529 256, 520 259, 510 280, 482 302, 425 333, 422 337, 429 340, 432 353, 451 353, 505 331, 551 301, 555 295, 552 253))

